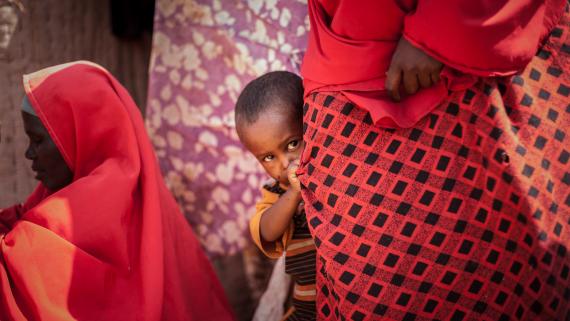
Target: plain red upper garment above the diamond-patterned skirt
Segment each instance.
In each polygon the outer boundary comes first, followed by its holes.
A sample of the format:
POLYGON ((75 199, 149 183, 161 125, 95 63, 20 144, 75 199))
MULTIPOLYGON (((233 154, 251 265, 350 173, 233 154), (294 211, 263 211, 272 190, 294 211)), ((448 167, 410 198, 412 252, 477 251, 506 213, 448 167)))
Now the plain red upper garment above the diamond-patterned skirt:
POLYGON ((341 91, 384 127, 411 127, 476 76, 520 71, 563 12, 565 0, 309 0, 305 94, 341 91), (444 79, 396 103, 384 84, 402 36, 442 61, 444 79), (458 73, 459 70, 469 75, 458 73))

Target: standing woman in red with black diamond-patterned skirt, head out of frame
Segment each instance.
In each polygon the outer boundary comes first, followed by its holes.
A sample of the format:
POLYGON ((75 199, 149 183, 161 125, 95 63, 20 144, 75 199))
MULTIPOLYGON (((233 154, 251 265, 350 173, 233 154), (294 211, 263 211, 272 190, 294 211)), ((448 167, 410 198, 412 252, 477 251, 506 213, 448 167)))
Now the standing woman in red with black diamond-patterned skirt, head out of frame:
POLYGON ((319 320, 570 318, 564 0, 309 0, 319 320))

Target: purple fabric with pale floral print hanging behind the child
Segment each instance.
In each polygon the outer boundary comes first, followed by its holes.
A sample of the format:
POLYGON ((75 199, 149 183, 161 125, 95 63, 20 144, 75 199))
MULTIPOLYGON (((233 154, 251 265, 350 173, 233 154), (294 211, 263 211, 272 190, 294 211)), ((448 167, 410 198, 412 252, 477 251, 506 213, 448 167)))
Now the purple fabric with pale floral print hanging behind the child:
POLYGON ((241 89, 272 70, 298 72, 306 0, 158 0, 147 124, 167 184, 211 257, 250 243, 267 176, 235 133, 241 89))

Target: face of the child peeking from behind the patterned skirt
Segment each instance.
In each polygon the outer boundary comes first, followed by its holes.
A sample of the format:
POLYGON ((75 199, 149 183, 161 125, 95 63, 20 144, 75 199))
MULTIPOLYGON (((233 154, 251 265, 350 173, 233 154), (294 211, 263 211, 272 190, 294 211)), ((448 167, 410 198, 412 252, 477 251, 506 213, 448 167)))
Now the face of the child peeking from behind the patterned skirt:
POLYGON ((240 128, 245 147, 283 186, 289 186, 287 167, 299 159, 304 147, 303 124, 287 110, 291 108, 269 108, 256 122, 240 128))

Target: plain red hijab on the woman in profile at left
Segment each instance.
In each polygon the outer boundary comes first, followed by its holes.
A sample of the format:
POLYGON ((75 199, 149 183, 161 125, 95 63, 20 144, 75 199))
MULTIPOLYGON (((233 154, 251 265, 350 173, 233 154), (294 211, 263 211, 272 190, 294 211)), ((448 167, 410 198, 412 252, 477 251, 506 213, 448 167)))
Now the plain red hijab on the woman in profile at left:
POLYGON ((0 319, 233 320, 127 91, 88 62, 24 86, 74 178, 0 213, 0 319))

